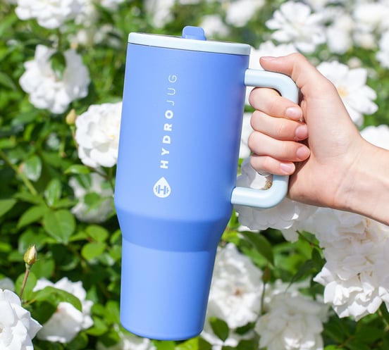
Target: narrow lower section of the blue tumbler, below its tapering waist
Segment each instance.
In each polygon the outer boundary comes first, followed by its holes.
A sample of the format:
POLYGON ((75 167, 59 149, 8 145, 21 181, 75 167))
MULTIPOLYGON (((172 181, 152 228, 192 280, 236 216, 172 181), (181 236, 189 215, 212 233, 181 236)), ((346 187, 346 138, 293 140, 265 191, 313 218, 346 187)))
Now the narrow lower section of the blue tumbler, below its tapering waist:
POLYGON ((182 340, 199 335, 214 268, 209 251, 166 251, 123 239, 121 323, 151 339, 182 340))

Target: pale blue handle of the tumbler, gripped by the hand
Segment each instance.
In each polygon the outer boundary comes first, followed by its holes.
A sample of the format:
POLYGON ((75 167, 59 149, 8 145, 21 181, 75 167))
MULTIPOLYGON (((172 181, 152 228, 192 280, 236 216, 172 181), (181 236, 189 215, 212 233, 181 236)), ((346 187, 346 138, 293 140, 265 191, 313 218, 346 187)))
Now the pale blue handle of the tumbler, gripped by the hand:
MULTIPOLYGON (((276 89, 286 99, 298 102, 299 90, 295 82, 281 73, 266 70, 247 69, 245 85, 252 87, 270 87, 276 89)), ((268 189, 252 189, 235 187, 231 195, 231 203, 254 208, 271 208, 280 203, 288 194, 289 176, 273 175, 273 183, 268 189)))

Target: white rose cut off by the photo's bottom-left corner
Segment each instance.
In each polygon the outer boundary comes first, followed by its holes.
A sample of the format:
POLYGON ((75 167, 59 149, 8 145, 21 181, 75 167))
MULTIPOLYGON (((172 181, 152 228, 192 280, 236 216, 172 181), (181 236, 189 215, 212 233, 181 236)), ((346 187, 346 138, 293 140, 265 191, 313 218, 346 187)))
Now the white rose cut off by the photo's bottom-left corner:
POLYGON ((0 289, 0 315, 0 349, 33 350, 32 338, 42 326, 8 289, 0 289))

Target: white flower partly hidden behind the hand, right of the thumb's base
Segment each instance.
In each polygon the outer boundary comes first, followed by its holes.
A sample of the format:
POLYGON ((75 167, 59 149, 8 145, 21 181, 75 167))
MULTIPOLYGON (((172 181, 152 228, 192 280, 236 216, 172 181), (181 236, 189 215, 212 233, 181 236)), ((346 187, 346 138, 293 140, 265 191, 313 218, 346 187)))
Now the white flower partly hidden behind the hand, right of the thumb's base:
POLYGON ((378 106, 373 102, 377 94, 366 85, 366 69, 350 69, 338 61, 322 62, 317 69, 338 89, 355 124, 362 125, 364 114, 373 114, 377 111, 378 106))

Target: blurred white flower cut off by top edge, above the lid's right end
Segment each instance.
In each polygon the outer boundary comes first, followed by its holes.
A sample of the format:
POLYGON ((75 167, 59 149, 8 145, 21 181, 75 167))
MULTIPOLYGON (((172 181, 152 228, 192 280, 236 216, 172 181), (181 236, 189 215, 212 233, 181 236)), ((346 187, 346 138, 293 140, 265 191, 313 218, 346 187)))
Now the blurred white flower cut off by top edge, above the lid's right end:
POLYGON ((254 13, 264 6, 264 0, 235 0, 228 3, 226 22, 235 27, 244 27, 254 13))

